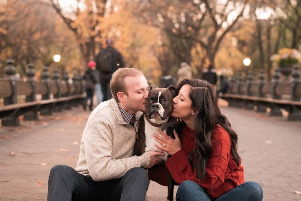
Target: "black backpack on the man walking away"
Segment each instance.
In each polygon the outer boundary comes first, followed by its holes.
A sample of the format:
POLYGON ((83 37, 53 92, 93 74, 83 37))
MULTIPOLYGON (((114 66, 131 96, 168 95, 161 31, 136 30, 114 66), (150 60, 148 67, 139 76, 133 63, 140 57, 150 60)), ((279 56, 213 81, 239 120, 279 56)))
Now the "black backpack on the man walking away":
POLYGON ((109 49, 103 49, 98 55, 99 71, 101 73, 112 73, 113 69, 113 55, 109 49))

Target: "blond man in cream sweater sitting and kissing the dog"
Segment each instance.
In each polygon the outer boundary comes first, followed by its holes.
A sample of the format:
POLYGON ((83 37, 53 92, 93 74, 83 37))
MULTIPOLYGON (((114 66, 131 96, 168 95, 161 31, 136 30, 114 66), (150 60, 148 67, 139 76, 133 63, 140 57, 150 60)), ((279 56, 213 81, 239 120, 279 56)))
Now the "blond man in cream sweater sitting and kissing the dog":
POLYGON ((110 85, 114 98, 99 104, 88 118, 77 168, 57 165, 50 170, 48 201, 145 199, 149 182, 143 168, 160 163, 156 155, 164 155, 149 151, 133 156, 148 84, 139 70, 119 68, 110 85))

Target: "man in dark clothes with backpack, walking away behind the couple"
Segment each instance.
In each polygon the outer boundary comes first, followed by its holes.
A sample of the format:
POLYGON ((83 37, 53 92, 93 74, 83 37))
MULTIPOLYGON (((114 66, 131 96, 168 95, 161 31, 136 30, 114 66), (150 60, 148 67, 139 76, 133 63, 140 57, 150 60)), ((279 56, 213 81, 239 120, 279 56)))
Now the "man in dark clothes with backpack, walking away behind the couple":
POLYGON ((96 68, 99 70, 101 88, 103 90, 103 101, 112 98, 110 90, 110 80, 112 74, 120 67, 124 68, 124 61, 121 53, 113 46, 112 39, 106 40, 107 47, 102 49, 97 55, 96 68))

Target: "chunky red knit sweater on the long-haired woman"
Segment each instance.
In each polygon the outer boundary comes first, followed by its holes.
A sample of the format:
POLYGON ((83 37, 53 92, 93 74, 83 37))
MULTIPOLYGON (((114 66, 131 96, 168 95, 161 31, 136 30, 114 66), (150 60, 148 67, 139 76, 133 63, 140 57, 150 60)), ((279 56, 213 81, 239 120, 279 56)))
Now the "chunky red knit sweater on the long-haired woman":
POLYGON ((186 180, 198 183, 211 198, 217 198, 245 182, 243 166, 237 166, 230 153, 231 141, 228 132, 217 124, 211 138, 213 152, 206 166, 206 175, 198 179, 197 169, 192 168, 188 155, 195 149, 194 131, 187 126, 180 136, 182 149, 172 155, 164 164, 149 170, 150 180, 166 186, 167 170, 178 184, 186 180))

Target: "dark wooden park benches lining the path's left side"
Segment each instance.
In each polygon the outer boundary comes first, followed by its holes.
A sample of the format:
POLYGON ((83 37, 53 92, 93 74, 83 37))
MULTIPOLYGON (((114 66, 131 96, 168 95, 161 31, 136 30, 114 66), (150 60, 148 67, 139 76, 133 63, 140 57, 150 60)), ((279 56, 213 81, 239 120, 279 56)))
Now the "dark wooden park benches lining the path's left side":
POLYGON ((82 78, 77 73, 74 73, 71 84, 68 72, 65 71, 64 78, 60 80, 55 69, 50 79, 48 67, 44 67, 41 81, 35 81, 33 64, 29 64, 26 81, 22 81, 15 77, 12 60, 8 60, 4 73, 4 79, 0 79, 2 126, 19 126, 20 115, 24 115, 24 120, 38 120, 38 112, 51 115, 53 111, 71 109, 71 106, 81 105, 86 97, 82 78))

